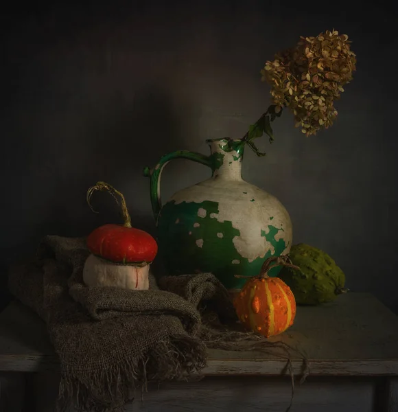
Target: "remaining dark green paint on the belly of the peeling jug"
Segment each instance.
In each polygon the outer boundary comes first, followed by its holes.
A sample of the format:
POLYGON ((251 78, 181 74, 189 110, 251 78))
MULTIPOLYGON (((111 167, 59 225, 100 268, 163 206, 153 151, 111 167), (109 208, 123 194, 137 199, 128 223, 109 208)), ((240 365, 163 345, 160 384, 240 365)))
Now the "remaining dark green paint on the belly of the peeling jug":
MULTIPOLYGON (((219 222, 216 218, 218 213, 217 202, 166 203, 158 221, 159 252, 171 275, 194 273, 195 270, 211 272, 226 288, 242 288, 247 279, 239 279, 235 275, 257 275, 266 258, 280 255, 285 250, 283 239, 275 239, 282 229, 270 225, 268 233, 260 229, 261 236, 266 238, 271 249, 264 257, 249 262, 239 255, 233 244, 233 238, 240 236, 239 230, 228 220, 219 222), (200 227, 194 227, 199 209, 206 210, 207 214, 200 219, 200 227), (175 222, 177 217, 180 218, 179 225, 169 223, 175 222), (170 242, 170 239, 173 241, 170 242), (198 247, 198 240, 201 247, 198 247), (239 264, 233 263, 237 260, 239 264)), ((270 276, 276 276, 279 270, 279 267, 272 268, 270 276)))

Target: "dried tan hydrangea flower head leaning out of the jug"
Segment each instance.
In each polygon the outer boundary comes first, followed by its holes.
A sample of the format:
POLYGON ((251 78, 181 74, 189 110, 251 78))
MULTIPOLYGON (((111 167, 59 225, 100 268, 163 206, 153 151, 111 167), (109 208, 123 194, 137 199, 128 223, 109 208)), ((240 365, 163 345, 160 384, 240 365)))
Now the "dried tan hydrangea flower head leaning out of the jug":
POLYGON ((268 60, 262 79, 271 85, 272 102, 292 110, 305 135, 328 128, 336 119, 335 100, 352 80, 356 58, 347 34, 336 30, 302 37, 291 49, 268 60))

